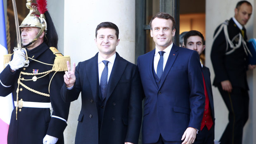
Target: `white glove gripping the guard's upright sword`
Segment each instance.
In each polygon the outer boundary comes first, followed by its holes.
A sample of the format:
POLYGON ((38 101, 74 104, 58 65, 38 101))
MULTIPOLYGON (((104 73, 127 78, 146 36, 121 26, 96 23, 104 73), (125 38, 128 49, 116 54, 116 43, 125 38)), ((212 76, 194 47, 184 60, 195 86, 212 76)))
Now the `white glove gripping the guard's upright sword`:
POLYGON ((27 67, 29 61, 26 60, 26 53, 25 50, 21 49, 21 48, 16 48, 13 50, 14 54, 13 54, 13 58, 12 61, 9 62, 10 68, 14 71, 16 71, 19 68, 22 67, 27 67))

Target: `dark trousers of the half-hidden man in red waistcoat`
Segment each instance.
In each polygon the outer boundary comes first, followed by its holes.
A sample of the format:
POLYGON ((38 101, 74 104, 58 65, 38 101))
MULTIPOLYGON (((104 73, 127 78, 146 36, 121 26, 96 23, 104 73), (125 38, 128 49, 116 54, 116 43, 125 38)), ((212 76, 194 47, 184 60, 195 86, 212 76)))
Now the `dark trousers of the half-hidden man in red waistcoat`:
POLYGON ((193 144, 214 144, 214 126, 207 129, 206 126, 198 132, 197 138, 193 144))

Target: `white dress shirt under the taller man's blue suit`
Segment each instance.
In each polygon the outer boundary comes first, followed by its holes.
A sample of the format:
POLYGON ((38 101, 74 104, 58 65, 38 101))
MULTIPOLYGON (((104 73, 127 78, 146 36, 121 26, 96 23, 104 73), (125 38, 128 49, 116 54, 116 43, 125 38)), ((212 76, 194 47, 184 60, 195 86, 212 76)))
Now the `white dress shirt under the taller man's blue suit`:
MULTIPOLYGON (((166 49, 163 50, 165 52, 164 55, 163 55, 163 58, 164 58, 163 71, 164 71, 167 59, 169 57, 169 54, 171 52, 171 47, 173 47, 173 43, 171 43, 171 45, 169 45, 168 47, 166 47, 166 49)), ((159 51, 160 50, 158 49, 158 47, 156 47, 156 52, 155 52, 155 55, 154 55, 154 70, 155 70, 155 72, 156 72, 158 61, 160 59, 160 54, 158 53, 159 51)))

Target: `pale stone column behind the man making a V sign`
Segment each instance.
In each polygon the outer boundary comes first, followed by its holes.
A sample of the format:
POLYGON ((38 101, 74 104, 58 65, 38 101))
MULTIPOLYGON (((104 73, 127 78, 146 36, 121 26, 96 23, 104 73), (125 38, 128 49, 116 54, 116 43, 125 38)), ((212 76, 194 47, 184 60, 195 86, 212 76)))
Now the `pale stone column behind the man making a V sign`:
MULTIPOLYGON (((64 9, 64 54, 71 56, 71 63, 77 65, 98 52, 95 29, 104 21, 119 27, 120 42, 116 51, 124 59, 135 62, 135 0, 65 0, 64 9)), ((80 110, 81 97, 71 102, 64 133, 66 144, 75 141, 80 110)))

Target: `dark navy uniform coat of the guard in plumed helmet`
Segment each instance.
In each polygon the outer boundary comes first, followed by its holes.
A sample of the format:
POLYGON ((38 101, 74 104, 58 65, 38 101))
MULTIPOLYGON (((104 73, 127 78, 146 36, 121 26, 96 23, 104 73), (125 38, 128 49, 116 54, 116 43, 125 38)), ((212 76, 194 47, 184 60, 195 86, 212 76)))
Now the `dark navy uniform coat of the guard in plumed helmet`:
MULTIPOLYGON (((54 63, 55 55, 44 42, 33 50, 27 50, 27 52, 28 57, 46 64, 54 63)), ((17 82, 21 71, 33 73, 33 71, 38 70, 38 73, 42 73, 52 70, 51 65, 42 64, 31 59, 29 61, 28 67, 19 68, 19 70, 12 73, 8 65, 0 73, 0 96, 5 97, 13 92, 13 99, 17 101, 17 82)), ((26 81, 26 79, 32 79, 34 75, 21 74, 21 78, 25 79, 21 80, 21 83, 45 94, 49 94, 48 87, 50 83, 50 97, 32 92, 20 84, 18 100, 22 99, 24 102, 50 102, 53 109, 52 117, 50 116, 49 108, 22 107, 18 108, 16 120, 16 107, 14 107, 8 131, 8 144, 42 144, 45 135, 57 137, 57 144, 64 144, 63 132, 67 125, 66 120, 68 119, 70 106, 70 103, 65 103, 60 95, 60 90, 64 83, 64 72, 55 73, 55 71, 52 71, 46 76, 44 75, 37 75, 38 79, 36 81, 26 81), (39 78, 41 76, 43 77, 39 78)))

